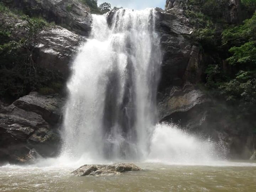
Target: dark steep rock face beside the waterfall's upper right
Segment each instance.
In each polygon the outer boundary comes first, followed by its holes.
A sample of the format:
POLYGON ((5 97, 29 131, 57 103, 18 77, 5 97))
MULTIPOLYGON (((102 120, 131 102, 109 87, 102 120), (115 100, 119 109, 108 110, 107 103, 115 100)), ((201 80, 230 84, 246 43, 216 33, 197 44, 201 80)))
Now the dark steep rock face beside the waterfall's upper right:
POLYGON ((183 15, 157 12, 156 31, 160 35, 162 68, 159 92, 185 82, 201 81, 202 50, 191 41, 193 32, 183 15))

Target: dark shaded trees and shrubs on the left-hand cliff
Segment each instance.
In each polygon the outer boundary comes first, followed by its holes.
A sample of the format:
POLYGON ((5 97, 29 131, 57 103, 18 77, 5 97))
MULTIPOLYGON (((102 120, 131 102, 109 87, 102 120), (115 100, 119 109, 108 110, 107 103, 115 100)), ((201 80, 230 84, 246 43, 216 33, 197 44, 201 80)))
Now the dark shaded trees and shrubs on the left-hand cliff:
MULTIPOLYGON (((25 21, 22 27, 26 31, 26 38, 16 39, 12 37, 12 26, 4 28, 5 16, 10 15, 8 8, 0 6, 0 96, 16 99, 28 94, 30 91, 40 91, 42 87, 59 91, 52 82, 61 84, 62 76, 53 70, 37 66, 34 62, 34 49, 40 32, 48 27, 49 23, 42 18, 30 18, 28 16, 17 16, 25 21)), ((13 13, 11 13, 13 14, 13 13)))

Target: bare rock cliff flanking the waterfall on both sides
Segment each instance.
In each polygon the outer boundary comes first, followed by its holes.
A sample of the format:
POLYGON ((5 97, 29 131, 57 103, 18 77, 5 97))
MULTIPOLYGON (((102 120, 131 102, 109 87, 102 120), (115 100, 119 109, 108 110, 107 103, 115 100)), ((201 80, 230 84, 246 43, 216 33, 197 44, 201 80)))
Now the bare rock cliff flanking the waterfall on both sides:
MULTIPOLYGON (((43 68, 57 69, 67 79, 70 61, 76 48, 90 33, 90 9, 71 0, 4 0, 6 5, 27 14, 44 17, 61 25, 40 32, 35 61, 43 68), (64 27, 64 28, 63 28, 64 27)), ((227 22, 239 20, 239 2, 226 4, 227 22)), ((161 38, 162 77, 159 84, 159 121, 179 123, 181 128, 224 142, 232 158, 248 159, 253 152, 253 138, 244 124, 231 123, 222 113, 225 104, 199 89, 202 71, 208 58, 194 42, 194 27, 185 10, 197 9, 187 1, 167 0, 166 9, 158 11, 156 31, 161 38), (216 106, 220 105, 219 111, 216 106)), ((24 21, 5 18, 5 26, 15 26, 13 38, 25 37, 24 21)), ((111 20, 110 15, 108 20, 111 20)), ((0 101, 0 161, 24 162, 33 156, 49 157, 58 153, 59 129, 65 99, 59 95, 45 96, 32 92, 7 106, 0 101)))

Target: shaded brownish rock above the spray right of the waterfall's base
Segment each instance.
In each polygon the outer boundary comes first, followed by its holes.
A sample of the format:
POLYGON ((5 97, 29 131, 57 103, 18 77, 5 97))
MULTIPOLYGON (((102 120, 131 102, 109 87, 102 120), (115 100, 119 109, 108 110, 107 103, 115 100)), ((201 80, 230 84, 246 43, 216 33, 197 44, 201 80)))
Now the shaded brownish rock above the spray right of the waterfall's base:
POLYGON ((193 85, 174 87, 159 101, 160 122, 178 124, 192 134, 219 143, 230 159, 249 159, 254 150, 250 122, 230 119, 225 103, 214 101, 193 85))

